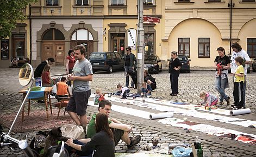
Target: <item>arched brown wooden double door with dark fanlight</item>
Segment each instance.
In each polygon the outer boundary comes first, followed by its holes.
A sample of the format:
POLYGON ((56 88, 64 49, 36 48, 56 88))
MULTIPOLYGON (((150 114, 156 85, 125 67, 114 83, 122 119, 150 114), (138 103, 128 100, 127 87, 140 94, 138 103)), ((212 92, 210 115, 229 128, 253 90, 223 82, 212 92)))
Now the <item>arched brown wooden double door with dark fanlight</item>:
POLYGON ((65 37, 58 29, 48 29, 42 37, 42 61, 53 57, 54 66, 64 66, 65 59, 65 37))

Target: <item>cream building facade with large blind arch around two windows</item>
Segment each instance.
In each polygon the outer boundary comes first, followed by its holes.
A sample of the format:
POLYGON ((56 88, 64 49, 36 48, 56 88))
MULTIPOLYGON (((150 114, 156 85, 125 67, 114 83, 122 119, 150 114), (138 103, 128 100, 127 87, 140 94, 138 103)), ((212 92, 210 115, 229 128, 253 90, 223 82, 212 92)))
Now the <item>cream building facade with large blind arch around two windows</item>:
POLYGON ((166 60, 171 51, 178 51, 189 56, 192 67, 213 66, 218 47, 230 53, 230 40, 239 42, 251 58, 256 57, 255 8, 256 2, 250 0, 234 0, 232 5, 224 0, 165 1, 162 58, 166 60))

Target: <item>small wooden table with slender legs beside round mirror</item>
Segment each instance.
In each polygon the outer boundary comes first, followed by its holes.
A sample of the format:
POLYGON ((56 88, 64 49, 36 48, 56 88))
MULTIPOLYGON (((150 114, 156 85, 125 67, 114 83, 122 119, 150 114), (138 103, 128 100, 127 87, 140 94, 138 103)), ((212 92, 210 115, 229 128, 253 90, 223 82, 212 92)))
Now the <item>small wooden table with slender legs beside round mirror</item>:
MULTIPOLYGON (((51 97, 50 97, 52 89, 53 89, 53 87, 46 87, 44 90, 47 121, 49 120, 47 97, 49 97, 49 105, 50 105, 51 114, 52 114, 52 103, 51 103, 51 97)), ((24 89, 18 91, 18 93, 23 93, 23 100, 25 99, 25 96, 27 95, 27 91, 28 91, 28 88, 24 88, 24 89)), ((25 108, 25 106, 23 106, 23 109, 22 109, 22 122, 24 120, 24 108, 25 108)), ((28 115, 29 115, 29 112, 30 112, 30 99, 28 99, 28 115)))

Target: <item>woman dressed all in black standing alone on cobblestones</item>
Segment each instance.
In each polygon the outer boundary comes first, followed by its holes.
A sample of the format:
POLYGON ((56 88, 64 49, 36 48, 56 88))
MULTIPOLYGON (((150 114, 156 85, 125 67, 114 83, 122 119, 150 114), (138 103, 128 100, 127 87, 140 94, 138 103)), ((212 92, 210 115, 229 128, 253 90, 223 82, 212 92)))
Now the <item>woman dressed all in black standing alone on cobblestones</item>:
POLYGON ((182 63, 180 62, 177 52, 172 51, 171 53, 172 59, 169 62, 169 73, 170 73, 170 81, 171 81, 171 96, 177 96, 178 94, 178 78, 179 78, 179 69, 182 67, 182 63))

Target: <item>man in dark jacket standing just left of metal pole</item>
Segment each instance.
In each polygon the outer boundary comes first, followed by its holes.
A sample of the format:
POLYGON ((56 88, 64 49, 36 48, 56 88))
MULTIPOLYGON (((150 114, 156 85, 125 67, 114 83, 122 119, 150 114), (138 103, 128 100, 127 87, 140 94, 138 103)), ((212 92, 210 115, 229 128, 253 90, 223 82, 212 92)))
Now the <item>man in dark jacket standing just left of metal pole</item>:
POLYGON ((137 59, 132 53, 132 48, 126 48, 127 54, 124 55, 124 69, 126 70, 126 87, 129 87, 129 73, 134 71, 134 66, 137 65, 137 59))

